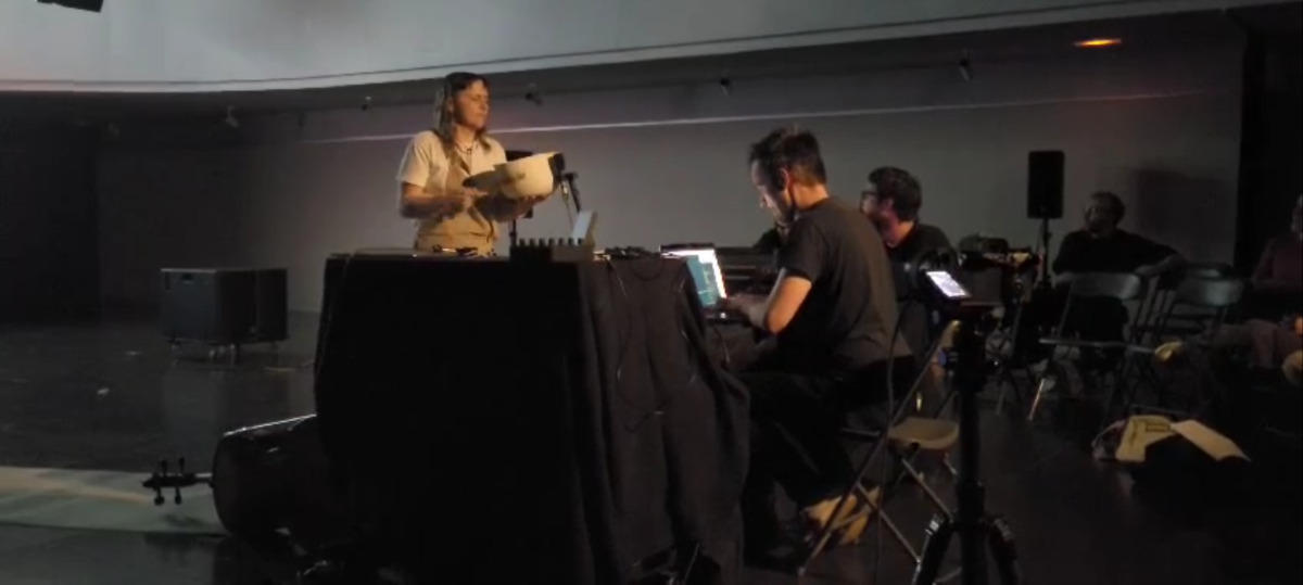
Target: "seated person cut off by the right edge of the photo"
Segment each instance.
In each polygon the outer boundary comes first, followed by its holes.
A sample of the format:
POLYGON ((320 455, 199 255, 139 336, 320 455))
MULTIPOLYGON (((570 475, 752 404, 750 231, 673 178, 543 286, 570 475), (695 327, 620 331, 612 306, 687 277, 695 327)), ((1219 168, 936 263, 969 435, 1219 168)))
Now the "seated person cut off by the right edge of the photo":
POLYGON ((1253 270, 1251 310, 1277 318, 1303 309, 1303 197, 1294 203, 1290 233, 1267 244, 1253 270))

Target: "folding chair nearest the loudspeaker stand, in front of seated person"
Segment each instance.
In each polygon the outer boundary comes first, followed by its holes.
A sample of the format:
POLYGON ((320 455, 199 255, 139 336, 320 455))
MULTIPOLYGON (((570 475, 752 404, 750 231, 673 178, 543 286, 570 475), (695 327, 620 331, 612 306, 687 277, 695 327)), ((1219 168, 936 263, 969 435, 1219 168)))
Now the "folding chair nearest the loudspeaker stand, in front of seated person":
MULTIPOLYGON (((1109 382, 1102 382, 1108 384, 1108 390, 1104 396, 1104 409, 1105 413, 1108 413, 1108 410, 1113 407, 1113 401, 1121 383, 1121 377, 1124 370, 1126 352, 1134 345, 1128 341, 1138 334, 1132 330, 1131 334, 1127 334, 1121 340, 1068 337, 1065 335, 1068 324, 1068 317, 1072 313, 1072 307, 1083 300, 1115 300, 1126 305, 1140 298, 1140 310, 1139 314, 1135 315, 1134 321, 1145 322, 1148 321, 1148 313, 1152 311, 1153 306, 1153 301, 1151 301, 1147 296, 1148 281, 1134 274, 1113 272, 1083 272, 1067 275, 1062 279, 1062 281, 1068 284, 1067 302, 1063 306, 1063 313, 1059 315, 1059 322, 1054 328, 1054 335, 1042 337, 1040 343, 1053 349, 1054 357, 1050 358, 1052 361, 1071 358, 1074 353, 1078 357, 1091 354, 1097 358, 1096 361, 1098 366, 1093 367, 1093 370, 1096 370, 1093 373, 1098 374, 1101 380, 1104 378, 1113 378, 1109 382), (1117 353, 1117 356, 1110 356, 1110 353, 1117 353), (1059 357, 1061 354, 1062 358, 1059 357)), ((1036 410, 1040 408, 1041 399, 1045 396, 1045 392, 1053 382, 1054 377, 1049 373, 1041 375, 1041 379, 1036 384, 1036 395, 1032 397, 1032 408, 1027 413, 1028 421, 1036 420, 1036 410)))

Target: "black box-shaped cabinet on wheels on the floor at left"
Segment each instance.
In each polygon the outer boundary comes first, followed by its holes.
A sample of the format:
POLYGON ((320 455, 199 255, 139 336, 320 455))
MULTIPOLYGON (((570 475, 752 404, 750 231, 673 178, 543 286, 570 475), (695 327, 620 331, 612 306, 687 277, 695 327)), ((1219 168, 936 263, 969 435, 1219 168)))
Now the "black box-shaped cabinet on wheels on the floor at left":
POLYGON ((284 341, 284 268, 163 268, 160 317, 171 343, 211 345, 284 341))

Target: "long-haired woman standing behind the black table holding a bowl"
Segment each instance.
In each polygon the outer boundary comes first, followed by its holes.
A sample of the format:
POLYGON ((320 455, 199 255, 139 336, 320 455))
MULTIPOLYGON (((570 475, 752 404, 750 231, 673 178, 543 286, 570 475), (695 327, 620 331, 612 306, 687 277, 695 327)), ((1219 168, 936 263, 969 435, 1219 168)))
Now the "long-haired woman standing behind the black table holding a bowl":
POLYGON ((541 201, 509 199, 466 184, 507 162, 487 128, 489 81, 474 73, 448 74, 435 126, 412 138, 399 167, 399 210, 417 223, 416 249, 493 255, 498 223, 524 215, 541 201))

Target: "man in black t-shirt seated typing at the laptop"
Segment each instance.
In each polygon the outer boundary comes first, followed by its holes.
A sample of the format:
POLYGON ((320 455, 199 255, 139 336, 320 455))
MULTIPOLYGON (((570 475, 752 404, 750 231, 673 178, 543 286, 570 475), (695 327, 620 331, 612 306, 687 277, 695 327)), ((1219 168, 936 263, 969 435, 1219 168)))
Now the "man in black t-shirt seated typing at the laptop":
MULTIPOLYGON (((739 374, 752 399, 751 473, 743 495, 747 551, 769 559, 780 543, 774 482, 796 502, 807 528, 833 520, 853 479, 838 431, 850 409, 886 399, 886 370, 904 392, 909 349, 891 343, 895 285, 882 238, 827 192, 818 141, 779 129, 751 147, 751 176, 765 203, 791 225, 769 296, 726 301, 775 339, 770 354, 739 374)), ((843 515, 863 502, 852 502, 843 515)), ((852 542, 866 522, 839 535, 852 542)))

